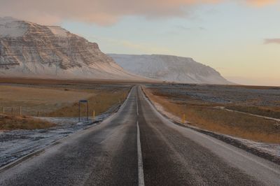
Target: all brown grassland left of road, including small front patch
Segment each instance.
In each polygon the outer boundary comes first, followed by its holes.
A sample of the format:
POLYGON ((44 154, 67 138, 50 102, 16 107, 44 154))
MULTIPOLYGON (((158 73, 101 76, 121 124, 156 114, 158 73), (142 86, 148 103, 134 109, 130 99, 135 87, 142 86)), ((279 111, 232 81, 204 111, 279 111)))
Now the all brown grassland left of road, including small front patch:
MULTIPOLYGON (((40 83, 0 85, 0 130, 34 129, 52 127, 30 116, 78 117, 78 101, 89 101, 89 115, 104 113, 122 103, 130 85, 109 85, 107 83, 40 83), (22 115, 20 116, 20 106, 22 115), (4 113, 3 113, 4 107, 4 113), (14 107, 14 108, 12 108, 14 107), (13 110, 12 110, 13 109, 13 110), (14 123, 14 125, 13 125, 14 123), (22 124, 22 125, 20 125, 22 124)), ((85 104, 81 105, 81 116, 86 115, 85 104)))

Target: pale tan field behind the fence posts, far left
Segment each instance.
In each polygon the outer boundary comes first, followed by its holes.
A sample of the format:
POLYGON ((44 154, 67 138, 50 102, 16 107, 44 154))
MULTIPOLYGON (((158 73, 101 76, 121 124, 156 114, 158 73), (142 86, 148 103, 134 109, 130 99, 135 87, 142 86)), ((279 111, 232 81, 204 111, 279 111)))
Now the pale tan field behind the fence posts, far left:
MULTIPOLYGON (((23 115, 36 115, 49 113, 79 99, 94 96, 91 92, 77 92, 64 89, 25 87, 25 86, 0 86, 0 109, 2 107, 22 106, 23 115)), ((6 113, 11 113, 11 108, 6 108, 6 113)), ((19 109, 14 110, 19 114, 19 109)))

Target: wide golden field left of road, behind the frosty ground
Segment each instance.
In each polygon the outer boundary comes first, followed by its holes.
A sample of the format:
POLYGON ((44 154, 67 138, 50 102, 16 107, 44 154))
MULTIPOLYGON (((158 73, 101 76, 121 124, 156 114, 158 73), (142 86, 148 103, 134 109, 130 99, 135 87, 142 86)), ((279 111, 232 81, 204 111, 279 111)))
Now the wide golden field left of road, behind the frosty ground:
MULTIPOLYGON (((103 113, 111 106, 121 102, 127 96, 129 87, 102 87, 99 89, 85 89, 83 85, 65 88, 39 86, 0 86, 0 112, 4 107, 22 106, 22 115, 50 116, 50 117, 78 117, 78 100, 89 101, 89 113, 95 115, 103 113)), ((11 114, 11 108, 5 108, 6 114, 11 114)), ((85 115, 85 106, 81 113, 85 115)), ((14 115, 19 115, 19 108, 13 109, 14 115)), ((82 115, 82 116, 83 116, 82 115)))

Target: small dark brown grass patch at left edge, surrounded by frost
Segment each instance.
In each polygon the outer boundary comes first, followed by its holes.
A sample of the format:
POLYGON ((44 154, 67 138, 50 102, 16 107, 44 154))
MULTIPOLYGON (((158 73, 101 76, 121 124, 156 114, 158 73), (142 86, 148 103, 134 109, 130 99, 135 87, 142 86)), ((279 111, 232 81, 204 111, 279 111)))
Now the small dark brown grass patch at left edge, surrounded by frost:
POLYGON ((45 129, 55 124, 27 116, 0 115, 0 131, 14 129, 45 129))

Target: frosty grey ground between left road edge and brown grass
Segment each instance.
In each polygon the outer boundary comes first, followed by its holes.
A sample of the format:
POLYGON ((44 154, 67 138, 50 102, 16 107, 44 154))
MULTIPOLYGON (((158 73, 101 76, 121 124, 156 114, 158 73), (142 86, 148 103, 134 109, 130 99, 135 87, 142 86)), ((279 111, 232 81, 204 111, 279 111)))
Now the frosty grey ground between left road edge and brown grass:
POLYGON ((92 118, 90 118, 89 122, 87 122, 86 118, 82 118, 82 121, 78 122, 77 117, 39 117, 41 120, 54 122, 57 126, 50 129, 1 131, 0 167, 31 152, 45 148, 73 132, 99 124, 117 108, 118 105, 111 107, 106 113, 95 117, 94 122, 92 118))

